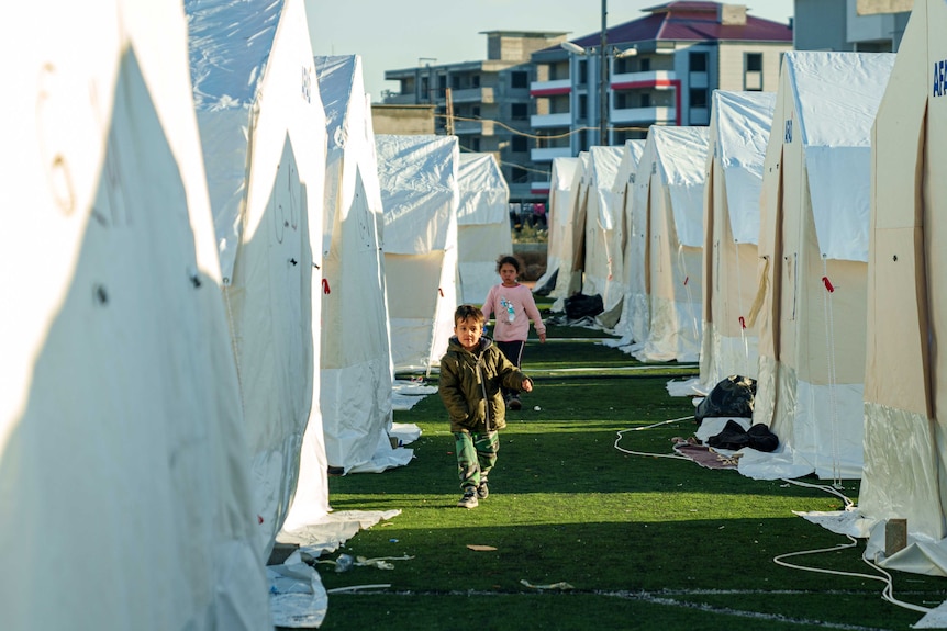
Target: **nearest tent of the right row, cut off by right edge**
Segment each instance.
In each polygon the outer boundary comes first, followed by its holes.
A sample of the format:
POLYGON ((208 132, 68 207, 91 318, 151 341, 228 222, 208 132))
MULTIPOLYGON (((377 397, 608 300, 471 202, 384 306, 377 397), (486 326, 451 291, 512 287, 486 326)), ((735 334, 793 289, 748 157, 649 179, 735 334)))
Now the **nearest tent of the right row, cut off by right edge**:
POLYGON ((947 575, 945 173, 947 5, 916 0, 871 137, 865 465, 858 512, 907 520, 909 547, 882 565, 947 575), (932 71, 933 80, 932 80, 932 71))

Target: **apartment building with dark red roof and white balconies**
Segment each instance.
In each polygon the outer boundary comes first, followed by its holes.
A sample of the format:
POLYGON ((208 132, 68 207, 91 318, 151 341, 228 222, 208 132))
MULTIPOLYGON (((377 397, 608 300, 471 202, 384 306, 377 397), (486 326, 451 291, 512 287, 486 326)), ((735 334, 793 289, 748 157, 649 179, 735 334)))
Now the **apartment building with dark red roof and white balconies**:
POLYGON ((709 1, 644 12, 608 29, 604 47, 594 33, 533 54, 534 195, 548 193, 536 171, 553 158, 644 138, 650 125, 708 125, 714 89, 776 91, 782 53, 792 49, 789 24, 709 1))

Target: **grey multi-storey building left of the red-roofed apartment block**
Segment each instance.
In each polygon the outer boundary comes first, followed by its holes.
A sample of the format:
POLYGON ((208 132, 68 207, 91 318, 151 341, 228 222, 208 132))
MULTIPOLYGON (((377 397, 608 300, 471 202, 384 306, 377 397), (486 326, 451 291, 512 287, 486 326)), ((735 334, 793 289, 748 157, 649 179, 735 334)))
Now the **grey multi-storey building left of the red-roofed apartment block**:
POLYGON ((531 56, 558 46, 568 33, 486 31, 481 35, 487 36, 484 60, 386 70, 385 78, 398 81, 400 88, 385 95, 383 103, 434 105, 436 133, 456 135, 461 151, 494 154, 510 199, 528 201, 531 56))

